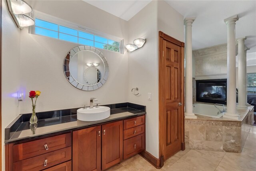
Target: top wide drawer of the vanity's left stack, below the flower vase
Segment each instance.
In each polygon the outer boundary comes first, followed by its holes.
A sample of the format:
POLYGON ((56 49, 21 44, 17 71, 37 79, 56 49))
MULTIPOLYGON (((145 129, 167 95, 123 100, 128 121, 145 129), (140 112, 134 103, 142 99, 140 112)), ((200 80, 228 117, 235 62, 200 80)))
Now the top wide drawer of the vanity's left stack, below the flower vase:
POLYGON ((71 146, 71 133, 38 139, 13 146, 13 161, 20 161, 71 146))

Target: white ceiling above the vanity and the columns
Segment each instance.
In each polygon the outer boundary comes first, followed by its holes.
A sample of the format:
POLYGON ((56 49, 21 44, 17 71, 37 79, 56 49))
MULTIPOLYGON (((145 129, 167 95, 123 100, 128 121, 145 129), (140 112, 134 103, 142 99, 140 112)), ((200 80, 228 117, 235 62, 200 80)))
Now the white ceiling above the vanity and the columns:
MULTIPOLYGON (((126 21, 151 0, 84 0, 126 21)), ((238 14, 236 38, 247 36, 248 53, 256 52, 256 1, 254 0, 165 0, 184 18, 195 17, 192 24, 192 49, 197 50, 227 42, 224 19, 238 14)), ((256 54, 256 53, 255 53, 256 54)), ((256 58, 256 56, 255 56, 256 58)))

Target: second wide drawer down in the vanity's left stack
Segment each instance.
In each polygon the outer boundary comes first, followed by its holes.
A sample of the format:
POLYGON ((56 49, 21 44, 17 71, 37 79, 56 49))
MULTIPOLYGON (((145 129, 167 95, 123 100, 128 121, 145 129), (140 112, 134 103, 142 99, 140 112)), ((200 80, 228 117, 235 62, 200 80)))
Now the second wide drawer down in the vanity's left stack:
POLYGON ((13 163, 14 171, 39 171, 71 160, 71 147, 31 157, 13 163))

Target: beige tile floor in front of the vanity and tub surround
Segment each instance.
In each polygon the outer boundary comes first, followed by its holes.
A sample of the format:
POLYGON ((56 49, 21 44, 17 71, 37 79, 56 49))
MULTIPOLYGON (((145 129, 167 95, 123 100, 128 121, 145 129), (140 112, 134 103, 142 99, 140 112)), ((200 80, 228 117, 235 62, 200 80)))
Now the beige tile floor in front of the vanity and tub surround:
POLYGON ((189 150, 179 151, 156 169, 135 155, 108 171, 256 171, 256 126, 252 126, 242 153, 189 150))

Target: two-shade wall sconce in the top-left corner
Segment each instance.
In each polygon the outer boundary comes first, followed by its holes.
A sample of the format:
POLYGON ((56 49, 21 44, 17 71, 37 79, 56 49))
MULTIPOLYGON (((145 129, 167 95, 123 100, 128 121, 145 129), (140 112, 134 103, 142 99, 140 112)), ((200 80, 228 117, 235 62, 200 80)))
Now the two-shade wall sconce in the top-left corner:
POLYGON ((35 21, 28 15, 32 12, 32 7, 24 0, 7 0, 8 8, 12 14, 12 18, 17 24, 18 28, 33 26, 35 21))

